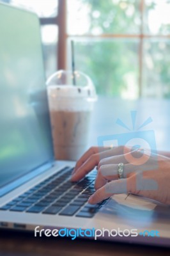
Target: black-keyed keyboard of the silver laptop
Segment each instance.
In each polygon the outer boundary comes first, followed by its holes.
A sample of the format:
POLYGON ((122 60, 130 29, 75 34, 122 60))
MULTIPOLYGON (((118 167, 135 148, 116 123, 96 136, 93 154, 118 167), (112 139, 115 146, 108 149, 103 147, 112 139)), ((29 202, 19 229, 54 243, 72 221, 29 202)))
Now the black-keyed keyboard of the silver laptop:
POLYGON ((71 182, 72 170, 68 166, 63 168, 3 205, 0 210, 92 218, 107 201, 88 204, 89 196, 95 192, 97 170, 79 182, 71 182))

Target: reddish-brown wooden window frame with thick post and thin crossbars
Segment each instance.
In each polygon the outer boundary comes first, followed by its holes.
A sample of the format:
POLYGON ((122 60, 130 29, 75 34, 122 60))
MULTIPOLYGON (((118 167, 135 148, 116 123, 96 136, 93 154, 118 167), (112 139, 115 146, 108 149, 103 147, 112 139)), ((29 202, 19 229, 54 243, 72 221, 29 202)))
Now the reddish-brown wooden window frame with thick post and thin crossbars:
POLYGON ((58 0, 58 16, 54 18, 40 18, 41 25, 56 24, 58 25, 58 56, 57 62, 58 69, 66 69, 67 66, 67 40, 68 38, 98 38, 98 39, 109 39, 109 38, 134 38, 139 39, 139 97, 143 95, 143 61, 144 61, 144 39, 147 38, 166 38, 170 39, 170 35, 148 35, 144 33, 144 9, 145 0, 139 0, 139 12, 141 13, 141 28, 139 34, 101 34, 101 35, 69 35, 66 31, 66 1, 58 0))

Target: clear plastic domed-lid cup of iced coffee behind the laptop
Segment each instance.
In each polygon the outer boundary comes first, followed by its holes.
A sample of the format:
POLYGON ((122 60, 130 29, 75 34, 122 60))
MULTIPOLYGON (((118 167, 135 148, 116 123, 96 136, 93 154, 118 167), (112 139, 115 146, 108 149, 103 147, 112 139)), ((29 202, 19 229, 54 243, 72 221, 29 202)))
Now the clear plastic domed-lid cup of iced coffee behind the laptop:
POLYGON ((59 70, 47 80, 56 159, 76 161, 87 149, 95 87, 86 74, 59 70))

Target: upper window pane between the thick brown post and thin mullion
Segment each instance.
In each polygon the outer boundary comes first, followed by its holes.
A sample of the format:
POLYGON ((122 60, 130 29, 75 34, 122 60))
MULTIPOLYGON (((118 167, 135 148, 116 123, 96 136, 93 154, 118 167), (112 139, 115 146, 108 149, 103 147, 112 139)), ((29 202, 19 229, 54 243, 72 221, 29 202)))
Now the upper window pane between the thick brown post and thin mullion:
POLYGON ((139 33, 139 6, 139 0, 68 0, 68 34, 139 33))

